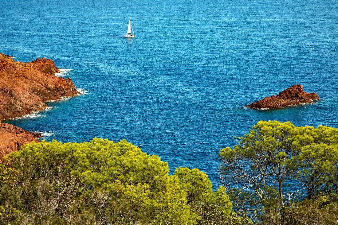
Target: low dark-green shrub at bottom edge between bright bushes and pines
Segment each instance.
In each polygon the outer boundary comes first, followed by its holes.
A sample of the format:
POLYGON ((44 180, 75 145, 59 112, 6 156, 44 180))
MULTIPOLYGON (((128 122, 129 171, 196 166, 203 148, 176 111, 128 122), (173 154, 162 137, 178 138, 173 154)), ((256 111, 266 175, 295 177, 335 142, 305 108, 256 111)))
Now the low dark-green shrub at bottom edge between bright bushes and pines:
POLYGON ((235 213, 229 214, 215 205, 194 205, 194 211, 200 217, 198 225, 251 225, 249 219, 239 217, 235 213))

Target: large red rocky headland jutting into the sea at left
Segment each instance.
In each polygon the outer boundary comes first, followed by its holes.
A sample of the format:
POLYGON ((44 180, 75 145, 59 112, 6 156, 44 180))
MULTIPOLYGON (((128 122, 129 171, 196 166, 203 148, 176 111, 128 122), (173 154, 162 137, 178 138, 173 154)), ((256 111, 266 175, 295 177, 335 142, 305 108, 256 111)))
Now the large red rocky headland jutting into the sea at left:
POLYGON ((20 117, 78 92, 70 78, 56 77, 59 69, 46 58, 18 62, 0 53, 0 120, 20 117))

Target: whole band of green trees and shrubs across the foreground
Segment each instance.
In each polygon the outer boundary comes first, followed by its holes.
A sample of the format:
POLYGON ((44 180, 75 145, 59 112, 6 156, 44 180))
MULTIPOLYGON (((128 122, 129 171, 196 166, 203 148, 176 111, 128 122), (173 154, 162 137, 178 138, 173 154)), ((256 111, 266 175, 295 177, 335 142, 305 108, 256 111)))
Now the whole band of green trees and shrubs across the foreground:
POLYGON ((1 224, 338 224, 338 129, 260 121, 216 191, 125 140, 30 143, 0 164, 1 224))

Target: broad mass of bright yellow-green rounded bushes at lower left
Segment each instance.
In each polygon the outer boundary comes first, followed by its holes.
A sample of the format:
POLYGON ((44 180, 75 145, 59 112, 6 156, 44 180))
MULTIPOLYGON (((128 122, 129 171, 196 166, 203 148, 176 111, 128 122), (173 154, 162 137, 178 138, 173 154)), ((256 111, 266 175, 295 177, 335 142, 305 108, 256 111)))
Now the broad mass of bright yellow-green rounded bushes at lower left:
POLYGON ((225 189, 208 176, 178 168, 126 141, 42 141, 0 164, 2 224, 196 224, 194 205, 228 215, 225 189))

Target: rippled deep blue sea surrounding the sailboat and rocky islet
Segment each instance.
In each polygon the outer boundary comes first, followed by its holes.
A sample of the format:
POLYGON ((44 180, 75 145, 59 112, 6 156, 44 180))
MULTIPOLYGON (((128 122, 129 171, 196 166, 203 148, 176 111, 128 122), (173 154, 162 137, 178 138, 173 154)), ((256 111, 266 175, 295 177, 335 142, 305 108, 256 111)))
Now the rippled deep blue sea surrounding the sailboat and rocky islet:
POLYGON ((51 58, 87 93, 7 122, 48 141, 126 139, 214 188, 219 149, 259 120, 338 128, 337 1, 2 0, 0 52, 51 58), (297 83, 321 101, 243 108, 297 83))

